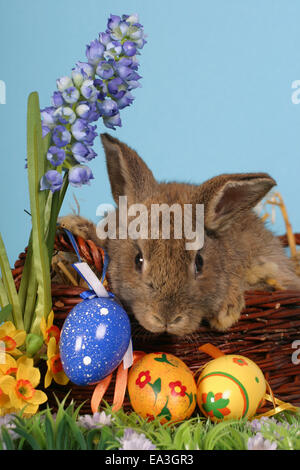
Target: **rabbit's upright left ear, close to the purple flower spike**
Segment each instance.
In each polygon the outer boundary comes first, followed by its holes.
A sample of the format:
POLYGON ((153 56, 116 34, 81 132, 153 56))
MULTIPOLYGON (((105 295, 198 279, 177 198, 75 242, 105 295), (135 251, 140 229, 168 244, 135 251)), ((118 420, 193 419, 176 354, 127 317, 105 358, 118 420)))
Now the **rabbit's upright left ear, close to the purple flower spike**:
POLYGON ((152 172, 138 154, 109 134, 101 134, 112 195, 127 196, 129 203, 144 200, 157 184, 152 172))

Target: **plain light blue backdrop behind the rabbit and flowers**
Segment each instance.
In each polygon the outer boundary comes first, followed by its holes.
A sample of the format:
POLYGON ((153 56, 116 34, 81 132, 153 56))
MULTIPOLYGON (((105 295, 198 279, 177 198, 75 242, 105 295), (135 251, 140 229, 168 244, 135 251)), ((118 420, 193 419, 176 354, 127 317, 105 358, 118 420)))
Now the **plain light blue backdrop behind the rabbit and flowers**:
MULTIPOLYGON (((222 172, 266 171, 278 182, 300 231, 300 79, 297 0, 0 0, 0 230, 11 264, 27 244, 30 218, 26 102, 31 91, 50 104, 56 79, 68 75, 110 13, 138 12, 148 34, 140 56, 143 88, 112 131, 133 146, 162 180, 202 182, 222 172)), ((105 131, 99 121, 98 131, 105 131)), ((94 221, 111 203, 103 151, 90 187, 68 190, 94 221)), ((277 233, 284 230, 277 215, 277 233)))

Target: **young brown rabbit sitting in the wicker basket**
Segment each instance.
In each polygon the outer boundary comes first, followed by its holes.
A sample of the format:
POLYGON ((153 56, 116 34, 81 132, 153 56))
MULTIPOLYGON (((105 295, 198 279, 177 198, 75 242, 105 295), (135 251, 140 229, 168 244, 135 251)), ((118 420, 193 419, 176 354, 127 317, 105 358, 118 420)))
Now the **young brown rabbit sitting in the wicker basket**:
POLYGON ((239 319, 245 290, 269 289, 269 278, 300 289, 280 242, 252 210, 276 184, 268 174, 223 174, 200 186, 158 183, 134 150, 108 134, 101 138, 117 204, 124 195, 128 205, 143 203, 149 212, 152 204, 204 204, 204 246, 198 251, 174 237, 101 241, 86 219, 61 220, 105 246, 112 290, 144 328, 185 335, 206 319, 224 331, 239 319))

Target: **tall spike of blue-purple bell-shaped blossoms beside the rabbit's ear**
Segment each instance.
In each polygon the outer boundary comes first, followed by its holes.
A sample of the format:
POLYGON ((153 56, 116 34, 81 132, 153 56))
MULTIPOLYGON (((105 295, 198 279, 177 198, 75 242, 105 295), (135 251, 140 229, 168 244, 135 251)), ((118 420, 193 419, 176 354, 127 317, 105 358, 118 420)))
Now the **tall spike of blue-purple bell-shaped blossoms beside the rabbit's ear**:
MULTIPOLYGON (((87 62, 77 62, 70 77, 56 81, 52 106, 41 110, 43 136, 51 135, 47 159, 60 166, 67 156, 73 156, 68 167, 79 163, 69 170, 74 186, 93 178, 91 170, 82 165, 96 156, 92 149, 96 126, 91 123, 102 117, 106 127, 116 129, 121 126, 119 111, 134 100, 130 90, 140 86, 141 78, 136 55, 144 43, 136 14, 110 15, 107 30, 86 46, 87 62)), ((51 171, 41 180, 41 189, 54 192, 60 189, 62 176, 51 171)))

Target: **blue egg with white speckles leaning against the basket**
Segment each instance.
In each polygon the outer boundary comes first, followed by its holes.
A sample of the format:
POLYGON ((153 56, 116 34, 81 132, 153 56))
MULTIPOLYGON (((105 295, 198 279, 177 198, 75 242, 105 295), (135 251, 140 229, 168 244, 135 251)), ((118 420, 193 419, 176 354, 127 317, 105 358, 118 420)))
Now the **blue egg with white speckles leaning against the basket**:
POLYGON ((129 318, 112 298, 96 297, 76 305, 59 343, 67 377, 77 385, 99 382, 118 367, 130 337, 129 318))

